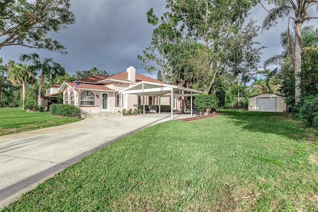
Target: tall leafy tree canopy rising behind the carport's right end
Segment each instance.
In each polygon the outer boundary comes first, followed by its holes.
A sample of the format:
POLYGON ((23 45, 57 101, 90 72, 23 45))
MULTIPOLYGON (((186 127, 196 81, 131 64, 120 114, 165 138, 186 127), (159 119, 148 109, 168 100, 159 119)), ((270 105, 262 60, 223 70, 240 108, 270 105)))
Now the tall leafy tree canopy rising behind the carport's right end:
MULTIPOLYGON (((167 0, 167 11, 161 17, 155 15, 153 9, 147 15, 148 22, 154 25, 159 22, 169 23, 183 37, 193 39, 198 43, 197 47, 201 46, 198 54, 200 58, 187 61, 187 66, 200 66, 195 74, 198 76, 196 83, 208 94, 221 71, 229 68, 232 71, 236 68, 236 72, 257 71, 255 64, 260 59, 260 48, 251 47, 256 44, 252 39, 257 35, 257 32, 254 33, 257 29, 254 28, 253 21, 244 24, 249 9, 255 4, 255 0, 167 0), (250 29, 253 30, 249 31, 250 29), (240 57, 236 57, 239 53, 240 57), (238 70, 239 64, 246 68, 238 70)), ((174 55, 175 53, 177 52, 174 51, 174 55)), ((184 52, 181 51, 180 54, 184 52)), ((179 72, 175 73, 180 75, 179 72)))

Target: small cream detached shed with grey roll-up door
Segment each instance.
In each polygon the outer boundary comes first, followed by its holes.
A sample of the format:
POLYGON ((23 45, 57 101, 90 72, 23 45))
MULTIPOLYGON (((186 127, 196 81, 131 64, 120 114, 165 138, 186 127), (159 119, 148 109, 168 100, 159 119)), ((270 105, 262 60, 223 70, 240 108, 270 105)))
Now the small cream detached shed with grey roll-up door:
POLYGON ((286 112, 285 98, 272 93, 251 96, 248 99, 248 111, 286 112))

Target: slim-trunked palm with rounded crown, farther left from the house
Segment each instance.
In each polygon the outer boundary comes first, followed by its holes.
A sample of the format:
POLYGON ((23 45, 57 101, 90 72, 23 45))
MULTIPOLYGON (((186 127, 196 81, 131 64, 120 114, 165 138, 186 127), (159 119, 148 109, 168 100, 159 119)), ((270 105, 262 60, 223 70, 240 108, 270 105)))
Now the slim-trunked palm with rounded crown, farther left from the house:
POLYGON ((25 109, 25 86, 36 82, 36 72, 24 63, 15 64, 13 61, 9 63, 8 71, 13 84, 22 84, 22 109, 25 109))

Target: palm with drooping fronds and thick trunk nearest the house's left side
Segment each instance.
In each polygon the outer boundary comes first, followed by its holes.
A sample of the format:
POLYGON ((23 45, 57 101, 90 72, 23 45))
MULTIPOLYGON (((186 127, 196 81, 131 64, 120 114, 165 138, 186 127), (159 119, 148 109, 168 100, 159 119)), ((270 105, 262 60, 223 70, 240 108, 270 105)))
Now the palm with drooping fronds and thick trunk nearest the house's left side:
POLYGON ((30 68, 41 72, 38 91, 38 106, 43 106, 44 77, 55 79, 57 76, 64 75, 65 69, 61 66, 61 64, 54 62, 53 58, 44 58, 36 53, 22 54, 20 56, 20 61, 30 61, 32 63, 30 68))

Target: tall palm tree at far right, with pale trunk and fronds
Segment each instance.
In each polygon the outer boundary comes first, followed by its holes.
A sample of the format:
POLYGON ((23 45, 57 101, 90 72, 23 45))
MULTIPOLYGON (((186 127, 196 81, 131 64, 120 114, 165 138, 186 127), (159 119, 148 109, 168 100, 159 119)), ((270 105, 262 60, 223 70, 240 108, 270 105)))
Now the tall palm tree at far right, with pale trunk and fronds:
MULTIPOLYGON (((315 17, 311 7, 318 4, 318 0, 269 0, 275 7, 268 11, 267 16, 263 20, 262 30, 268 30, 277 24, 277 19, 289 17, 293 20, 293 28, 295 30, 295 53, 294 53, 294 70, 295 70, 295 102, 300 101, 301 94, 300 72, 301 72, 301 29, 302 24, 307 20, 315 17), (292 17, 291 15, 294 15, 292 17)), ((265 7, 264 7, 265 8, 265 7)), ((318 6, 317 9, 318 10, 318 6)), ((289 28, 289 27, 288 27, 289 28)))

